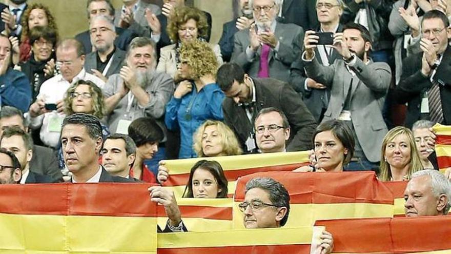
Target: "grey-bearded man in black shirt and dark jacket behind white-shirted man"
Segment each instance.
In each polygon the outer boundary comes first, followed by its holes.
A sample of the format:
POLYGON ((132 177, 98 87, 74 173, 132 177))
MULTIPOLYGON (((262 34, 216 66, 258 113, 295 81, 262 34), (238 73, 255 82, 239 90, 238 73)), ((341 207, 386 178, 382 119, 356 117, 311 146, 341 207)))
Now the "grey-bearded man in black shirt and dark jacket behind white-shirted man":
POLYGON ((94 16, 89 24, 89 33, 95 51, 86 55, 85 69, 106 82, 110 75, 119 73, 125 51, 114 45, 117 34, 111 19, 103 15, 94 16))

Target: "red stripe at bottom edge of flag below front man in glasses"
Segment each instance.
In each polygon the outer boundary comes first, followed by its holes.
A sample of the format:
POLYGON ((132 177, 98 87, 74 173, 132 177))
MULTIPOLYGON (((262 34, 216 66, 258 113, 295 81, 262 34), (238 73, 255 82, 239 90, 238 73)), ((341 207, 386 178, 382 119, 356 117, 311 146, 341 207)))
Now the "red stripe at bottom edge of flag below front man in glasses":
MULTIPOLYGON (((277 236, 274 236, 277 237, 277 236)), ((158 249, 158 254, 309 254, 310 244, 158 249)))

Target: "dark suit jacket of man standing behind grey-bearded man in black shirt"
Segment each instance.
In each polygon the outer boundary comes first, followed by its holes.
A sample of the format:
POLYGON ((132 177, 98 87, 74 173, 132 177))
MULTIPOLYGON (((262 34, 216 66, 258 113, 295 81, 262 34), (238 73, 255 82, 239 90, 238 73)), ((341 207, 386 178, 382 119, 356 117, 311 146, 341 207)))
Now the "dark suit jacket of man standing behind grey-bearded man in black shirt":
MULTIPOLYGON (((138 36, 138 34, 133 32, 132 30, 120 27, 116 27, 116 33, 117 37, 116 40, 114 40, 114 45, 116 45, 116 47, 124 51, 127 51, 128 46, 130 42, 133 40, 133 38, 138 36)), ((85 48, 85 54, 91 53, 92 44, 89 30, 86 30, 84 32, 75 35, 75 40, 83 44, 83 47, 85 48)))

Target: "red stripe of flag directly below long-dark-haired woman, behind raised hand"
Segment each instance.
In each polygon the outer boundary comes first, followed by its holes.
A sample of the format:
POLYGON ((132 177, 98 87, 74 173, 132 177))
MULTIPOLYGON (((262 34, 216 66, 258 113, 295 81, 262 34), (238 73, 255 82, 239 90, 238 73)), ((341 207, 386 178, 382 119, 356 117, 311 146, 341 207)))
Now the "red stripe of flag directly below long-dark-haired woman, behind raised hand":
MULTIPOLYGON (((182 218, 202 218, 212 220, 232 220, 232 207, 179 205, 182 218)), ((165 207, 157 206, 158 217, 166 217, 165 207)))

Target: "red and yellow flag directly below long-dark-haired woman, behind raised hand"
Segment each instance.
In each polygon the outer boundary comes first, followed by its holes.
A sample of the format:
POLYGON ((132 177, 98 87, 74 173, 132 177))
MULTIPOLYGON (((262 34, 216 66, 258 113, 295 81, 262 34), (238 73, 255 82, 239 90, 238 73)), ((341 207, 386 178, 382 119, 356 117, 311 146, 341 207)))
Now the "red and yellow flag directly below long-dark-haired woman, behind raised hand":
MULTIPOLYGON (((233 199, 177 198, 183 224, 189 231, 232 229, 233 199)), ((165 207, 158 205, 158 225, 165 228, 168 218, 165 207)))

